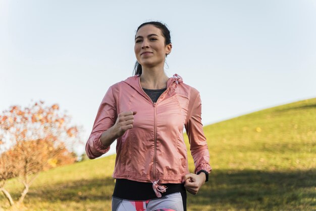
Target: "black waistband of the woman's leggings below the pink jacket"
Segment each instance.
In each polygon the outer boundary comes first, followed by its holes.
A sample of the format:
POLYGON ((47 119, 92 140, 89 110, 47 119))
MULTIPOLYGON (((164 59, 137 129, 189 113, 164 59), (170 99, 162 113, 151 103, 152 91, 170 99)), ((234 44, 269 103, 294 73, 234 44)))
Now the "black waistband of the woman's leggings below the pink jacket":
MULTIPOLYGON (((161 193, 162 196, 186 191, 184 184, 168 183, 163 185, 167 186, 168 188, 165 193, 161 193)), ((127 179, 116 179, 113 196, 126 200, 142 201, 157 198, 152 189, 152 183, 136 182, 127 179)))

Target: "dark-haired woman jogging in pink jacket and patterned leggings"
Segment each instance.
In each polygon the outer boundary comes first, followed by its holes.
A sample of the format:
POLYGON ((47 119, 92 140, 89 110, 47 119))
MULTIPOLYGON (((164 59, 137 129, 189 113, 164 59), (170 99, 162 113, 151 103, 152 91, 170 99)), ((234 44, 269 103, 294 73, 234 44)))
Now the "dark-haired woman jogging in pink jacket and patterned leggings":
POLYGON ((211 171, 199 93, 164 72, 171 50, 164 24, 141 24, 135 75, 111 86, 98 109, 86 153, 99 157, 117 139, 112 210, 186 210, 186 190, 196 194, 211 171), (195 174, 189 174, 183 126, 195 174))

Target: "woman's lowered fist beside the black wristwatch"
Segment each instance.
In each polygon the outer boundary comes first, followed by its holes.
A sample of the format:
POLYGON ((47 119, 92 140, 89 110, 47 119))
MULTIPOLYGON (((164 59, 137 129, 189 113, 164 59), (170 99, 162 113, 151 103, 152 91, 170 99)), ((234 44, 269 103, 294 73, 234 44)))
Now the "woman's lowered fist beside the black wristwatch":
POLYGON ((205 173, 201 172, 199 175, 196 174, 187 174, 184 176, 182 182, 185 182, 184 187, 185 189, 195 195, 197 194, 200 187, 205 183, 205 173))

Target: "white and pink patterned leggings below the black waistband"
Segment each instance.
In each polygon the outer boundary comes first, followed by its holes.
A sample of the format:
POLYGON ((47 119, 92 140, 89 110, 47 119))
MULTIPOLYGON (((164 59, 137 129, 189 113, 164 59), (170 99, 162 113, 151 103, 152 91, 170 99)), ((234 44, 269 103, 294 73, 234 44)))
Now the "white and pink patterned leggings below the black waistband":
POLYGON ((112 197, 112 211, 183 211, 181 193, 172 193, 146 201, 112 197))

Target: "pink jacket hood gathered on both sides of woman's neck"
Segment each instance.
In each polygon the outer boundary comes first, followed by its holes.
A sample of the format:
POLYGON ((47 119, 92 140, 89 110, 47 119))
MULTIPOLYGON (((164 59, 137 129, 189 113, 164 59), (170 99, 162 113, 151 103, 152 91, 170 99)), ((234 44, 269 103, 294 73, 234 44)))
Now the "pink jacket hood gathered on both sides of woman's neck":
MULTIPOLYGON (((144 97, 146 97, 143 89, 141 88, 140 85, 140 80, 139 80, 139 76, 140 75, 134 75, 131 77, 128 77, 126 80, 124 80, 123 82, 127 83, 129 86, 131 86, 134 90, 136 90, 137 92, 139 92, 141 95, 143 95, 144 97)), ((167 81, 167 90, 170 89, 170 92, 176 92, 176 90, 178 89, 179 85, 183 82, 183 79, 180 75, 178 74, 174 74, 172 77, 170 77, 167 81)))

